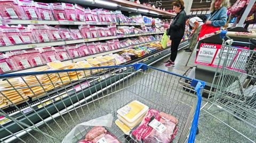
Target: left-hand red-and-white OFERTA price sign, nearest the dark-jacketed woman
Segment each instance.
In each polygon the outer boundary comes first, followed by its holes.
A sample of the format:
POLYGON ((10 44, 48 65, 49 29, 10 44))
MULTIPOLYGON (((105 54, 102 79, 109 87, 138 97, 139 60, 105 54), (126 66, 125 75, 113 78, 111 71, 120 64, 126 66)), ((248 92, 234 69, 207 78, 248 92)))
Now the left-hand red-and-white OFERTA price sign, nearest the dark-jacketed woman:
POLYGON ((216 52, 221 47, 217 44, 204 44, 202 43, 196 57, 196 64, 211 65, 216 52))

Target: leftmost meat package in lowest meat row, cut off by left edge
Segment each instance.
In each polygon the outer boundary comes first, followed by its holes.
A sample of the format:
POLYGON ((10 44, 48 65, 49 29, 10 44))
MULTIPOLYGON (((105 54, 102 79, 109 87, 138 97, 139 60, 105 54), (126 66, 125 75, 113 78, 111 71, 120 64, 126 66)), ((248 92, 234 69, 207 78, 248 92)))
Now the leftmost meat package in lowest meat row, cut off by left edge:
POLYGON ((7 58, 5 54, 0 53, 0 74, 14 71, 13 67, 10 58, 7 58))

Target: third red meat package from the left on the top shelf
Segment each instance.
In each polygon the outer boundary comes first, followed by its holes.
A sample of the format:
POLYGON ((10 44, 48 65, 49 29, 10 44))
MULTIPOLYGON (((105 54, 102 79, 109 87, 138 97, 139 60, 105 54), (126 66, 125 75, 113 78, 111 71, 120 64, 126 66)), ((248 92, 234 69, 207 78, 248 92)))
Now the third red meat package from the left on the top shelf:
POLYGON ((47 3, 37 3, 35 2, 35 6, 42 18, 42 20, 54 20, 51 7, 47 3))

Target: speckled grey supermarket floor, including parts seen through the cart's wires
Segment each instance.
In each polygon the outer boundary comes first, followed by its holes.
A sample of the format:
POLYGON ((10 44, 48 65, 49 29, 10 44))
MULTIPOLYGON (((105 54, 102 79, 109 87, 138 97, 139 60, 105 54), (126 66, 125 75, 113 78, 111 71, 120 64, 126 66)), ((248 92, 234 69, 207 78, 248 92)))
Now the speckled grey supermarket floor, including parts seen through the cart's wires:
MULTIPOLYGON (((178 74, 184 74, 189 69, 190 66, 194 65, 195 53, 193 53, 193 56, 191 57, 191 60, 188 64, 188 66, 185 66, 185 64, 187 62, 187 58, 188 58, 188 53, 182 50, 182 51, 179 51, 179 53, 178 53, 177 61, 175 62, 174 67, 166 68, 164 66, 163 61, 166 61, 167 58, 155 63, 153 66, 155 68, 175 72, 178 74)), ((140 78, 141 78, 140 76, 137 79, 131 78, 130 83, 133 84, 135 82, 141 81, 142 79, 140 79, 140 78)), ((122 88, 122 86, 121 87, 119 86, 119 88, 122 88)), ((133 88, 133 87, 131 87, 131 88, 133 88)), ((118 90, 118 86, 115 87, 114 89, 118 90)), ((170 90, 164 90, 164 89, 166 89, 166 87, 163 87, 163 88, 160 87, 159 90, 166 91, 166 94, 169 94, 169 96, 175 96, 175 92, 171 91, 171 89, 170 90)), ((182 90, 182 87, 181 87, 181 90, 182 90)), ((134 90, 134 92, 139 92, 139 91, 134 90)), ((129 92, 129 89, 127 89, 127 91, 123 91, 123 92, 115 92, 111 97, 112 99, 111 98, 110 99, 103 98, 93 104, 89 104, 87 107, 83 106, 82 108, 77 108, 77 110, 63 115, 59 119, 56 119, 54 122, 48 123, 49 126, 47 126, 47 127, 44 126, 40 129, 43 132, 51 134, 52 136, 59 136, 60 138, 63 138, 73 127, 75 127, 76 124, 88 121, 90 119, 97 118, 102 115, 105 115, 106 113, 103 113, 103 111, 99 111, 99 108, 103 108, 103 110, 109 111, 110 110, 109 107, 110 108, 122 107, 125 104, 127 104, 127 102, 130 102, 132 94, 133 94, 132 92, 129 92), (109 100, 109 102, 106 102, 107 100, 109 100), (88 111, 88 110, 86 110, 87 108, 91 108, 91 110, 88 111), (81 117, 83 117, 82 120, 81 120, 81 117), (63 120, 63 119, 65 119, 65 120, 63 120), (60 125, 60 127, 62 127, 62 129, 61 129, 62 131, 60 131, 60 130, 55 131, 54 129, 58 129, 59 125, 60 125)), ((153 90, 153 92, 151 92, 151 89, 150 89, 149 92, 145 91, 145 93, 140 93, 140 94, 145 96, 144 99, 145 99, 145 102, 147 103, 147 98, 150 98, 151 95, 153 95, 151 97, 154 97, 155 95, 157 95, 159 93, 154 92, 154 90, 153 90)), ((159 100, 159 102, 160 103, 163 102, 161 104, 163 104, 163 106, 165 106, 164 100, 160 101, 161 99, 157 99, 157 98, 154 98, 152 100, 155 100, 156 103, 159 100)), ((188 100, 192 100, 192 99, 188 99, 188 100)), ((155 106, 155 105, 151 105, 151 103, 149 103, 149 102, 148 102, 148 104, 150 104, 151 107, 155 106)), ((204 105, 204 104, 205 104, 205 101, 202 101, 202 105, 204 105)), ((166 106, 176 106, 176 105, 168 104, 166 106)), ((209 106, 210 105, 206 105, 206 107, 209 107, 209 106)), ((216 108, 214 108, 214 107, 212 107, 211 109, 216 110, 216 108)), ((179 108, 178 110, 180 110, 181 113, 186 113, 189 111, 185 108, 179 108)), ((114 114, 115 113, 116 113, 116 111, 114 111, 114 114)), ((220 121, 215 119, 213 116, 209 116, 208 114, 206 114, 206 116, 203 116, 202 115, 203 113, 204 112, 202 111, 201 116, 200 116, 201 119, 198 122, 199 134, 196 136, 195 142, 198 142, 198 143, 199 142, 204 142, 204 143, 207 143, 207 142, 216 142, 216 143, 220 143, 220 142, 230 142, 230 143, 231 142, 239 142, 239 143, 240 142, 250 142, 250 141, 246 140, 245 137, 241 136, 237 132, 231 130, 226 125, 224 125, 223 123, 221 123, 220 121)), ((252 140, 254 140, 254 141, 256 140, 256 136, 255 136, 256 130, 249 127, 249 125, 236 120, 233 116, 228 115, 226 112, 220 112, 220 113, 216 113, 216 114, 213 113, 213 114, 215 116, 217 116, 219 119, 221 119, 222 121, 229 123, 236 130, 243 132, 244 134, 246 134, 246 136, 250 137, 252 140)), ((182 124, 182 122, 183 122, 182 119, 179 119, 179 122, 182 124)), ((179 128, 179 129, 181 129, 181 128, 179 128)), ((119 139, 125 140, 123 138, 123 134, 120 134, 120 132, 122 132, 122 131, 118 127, 116 127, 115 123, 112 124, 112 127, 110 128, 110 130, 111 130, 111 132, 115 133, 115 135, 119 139)), ((180 134, 178 133, 177 138, 179 135, 180 134)), ((35 138, 32 138, 31 136, 27 136, 27 137, 23 138, 23 140, 26 142, 39 142, 39 141, 51 142, 51 141, 47 141, 45 139, 45 136, 43 136, 41 133, 33 132, 33 136, 35 138)), ((174 142, 177 142, 177 138, 175 138, 174 142)), ((125 142, 123 140, 121 140, 121 141, 125 142)))

